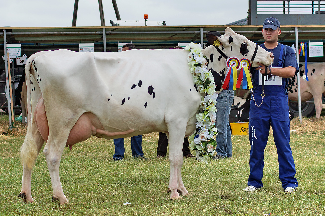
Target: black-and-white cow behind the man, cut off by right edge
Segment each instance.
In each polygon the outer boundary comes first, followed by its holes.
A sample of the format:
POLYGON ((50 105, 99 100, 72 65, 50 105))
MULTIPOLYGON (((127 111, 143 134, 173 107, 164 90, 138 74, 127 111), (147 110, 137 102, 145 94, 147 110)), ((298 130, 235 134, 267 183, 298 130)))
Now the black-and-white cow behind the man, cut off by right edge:
MULTIPOLYGON (((322 95, 325 95, 325 63, 307 64, 309 81, 302 78, 305 74, 305 64, 301 64, 299 67, 301 101, 314 98, 316 118, 319 118, 323 108, 322 95)), ((288 90, 289 100, 298 101, 296 76, 289 79, 288 90)))

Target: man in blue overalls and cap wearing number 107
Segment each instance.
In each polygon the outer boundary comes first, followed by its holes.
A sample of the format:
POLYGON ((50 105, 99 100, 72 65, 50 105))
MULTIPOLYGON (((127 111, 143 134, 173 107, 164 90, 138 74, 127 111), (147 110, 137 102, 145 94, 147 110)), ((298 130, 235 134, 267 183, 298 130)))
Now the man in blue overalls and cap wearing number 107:
POLYGON ((270 125, 273 129, 275 146, 279 160, 279 179, 284 193, 293 193, 298 186, 294 178, 296 173, 290 147, 290 121, 288 107, 289 78, 299 72, 294 50, 290 46, 278 43, 281 34, 280 22, 274 17, 263 23, 262 34, 265 40, 260 46, 272 52, 274 61, 270 70, 265 65, 252 68, 253 94, 249 112, 249 156, 250 175, 248 187, 244 191, 255 191, 261 188, 264 166, 264 149, 266 147, 270 125), (276 66, 274 68, 274 66, 276 66), (266 76, 264 74, 267 73, 266 76), (262 79, 264 80, 265 97, 262 98, 262 79))

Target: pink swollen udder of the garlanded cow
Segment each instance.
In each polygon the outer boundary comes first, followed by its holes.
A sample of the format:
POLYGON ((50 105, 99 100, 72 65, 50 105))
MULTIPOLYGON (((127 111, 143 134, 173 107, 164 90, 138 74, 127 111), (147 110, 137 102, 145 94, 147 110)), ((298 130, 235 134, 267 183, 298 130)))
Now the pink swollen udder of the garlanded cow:
MULTIPOLYGON (((47 142, 49 136, 49 126, 43 98, 39 100, 35 107, 34 121, 37 125, 38 131, 41 133, 43 139, 47 142)), ((110 133, 104 129, 97 116, 91 112, 85 112, 79 117, 77 122, 72 127, 66 142, 66 146, 70 146, 71 150, 72 145, 88 139, 91 135, 111 138, 113 136, 126 135, 133 132, 134 130, 130 129, 125 132, 110 133)))

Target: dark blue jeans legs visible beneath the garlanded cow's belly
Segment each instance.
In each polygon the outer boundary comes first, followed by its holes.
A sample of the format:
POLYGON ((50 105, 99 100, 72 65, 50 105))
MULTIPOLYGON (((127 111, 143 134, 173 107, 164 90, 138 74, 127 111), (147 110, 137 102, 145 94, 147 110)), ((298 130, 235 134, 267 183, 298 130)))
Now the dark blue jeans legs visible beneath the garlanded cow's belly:
MULTIPOLYGON (((137 158, 143 156, 142 151, 142 135, 131 137, 131 152, 132 157, 137 158)), ((115 153, 113 158, 123 159, 124 158, 124 138, 114 139, 115 153)))

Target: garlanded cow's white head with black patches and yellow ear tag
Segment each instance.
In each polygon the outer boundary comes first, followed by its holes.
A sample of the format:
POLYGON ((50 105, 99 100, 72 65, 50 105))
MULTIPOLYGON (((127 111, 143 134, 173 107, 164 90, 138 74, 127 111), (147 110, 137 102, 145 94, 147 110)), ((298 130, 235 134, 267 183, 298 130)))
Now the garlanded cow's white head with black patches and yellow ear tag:
MULTIPOLYGON (((247 58, 252 60, 256 44, 241 34, 237 34, 230 28, 226 28, 225 34, 222 35, 219 32, 209 32, 206 34, 206 38, 210 44, 218 46, 217 41, 220 42, 220 50, 228 57, 247 58)), ((262 47, 258 47, 257 53, 253 59, 253 67, 258 67, 257 62, 264 65, 272 64, 274 56, 271 52, 267 52, 262 47)))

